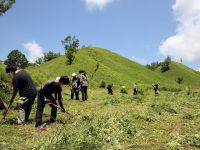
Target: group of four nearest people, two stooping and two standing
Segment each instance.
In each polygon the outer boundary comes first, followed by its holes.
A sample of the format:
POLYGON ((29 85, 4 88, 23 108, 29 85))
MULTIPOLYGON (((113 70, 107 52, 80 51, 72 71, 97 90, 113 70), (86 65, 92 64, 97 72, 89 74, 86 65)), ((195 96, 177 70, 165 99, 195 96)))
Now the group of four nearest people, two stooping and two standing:
MULTIPOLYGON (((51 107, 50 122, 55 122, 57 109, 60 108, 62 112, 65 112, 65 108, 62 103, 62 86, 69 85, 70 81, 67 76, 57 77, 56 80, 47 81, 39 91, 31 78, 31 76, 23 69, 17 69, 16 66, 8 65, 6 67, 6 73, 13 74, 13 94, 10 99, 9 105, 6 107, 4 117, 9 109, 12 107, 12 103, 19 92, 19 100, 17 101, 18 124, 26 124, 29 121, 30 112, 35 98, 38 95, 37 111, 35 117, 35 127, 42 129, 46 126, 46 123, 42 123, 42 116, 45 104, 48 103, 51 107), (58 100, 59 106, 56 100, 58 100)), ((75 73, 72 74, 72 88, 71 98, 76 95, 76 99, 79 99, 79 90, 82 92, 82 100, 87 100, 87 86, 88 78, 84 70, 80 70, 80 78, 75 73)))

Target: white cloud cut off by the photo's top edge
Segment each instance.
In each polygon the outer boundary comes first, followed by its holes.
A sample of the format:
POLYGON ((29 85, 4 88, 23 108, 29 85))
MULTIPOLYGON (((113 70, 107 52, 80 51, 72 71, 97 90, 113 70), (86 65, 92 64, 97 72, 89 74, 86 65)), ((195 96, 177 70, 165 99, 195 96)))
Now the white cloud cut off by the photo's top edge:
POLYGON ((82 0, 85 2, 88 10, 92 11, 95 9, 102 10, 109 3, 119 1, 119 0, 82 0))

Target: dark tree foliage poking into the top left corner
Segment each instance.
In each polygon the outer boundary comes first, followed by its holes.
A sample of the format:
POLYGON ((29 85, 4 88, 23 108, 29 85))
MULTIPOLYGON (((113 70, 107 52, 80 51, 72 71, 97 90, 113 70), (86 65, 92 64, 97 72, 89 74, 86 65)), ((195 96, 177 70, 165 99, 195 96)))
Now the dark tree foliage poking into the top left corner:
POLYGON ((10 9, 14 3, 15 0, 0 0, 0 16, 10 9))

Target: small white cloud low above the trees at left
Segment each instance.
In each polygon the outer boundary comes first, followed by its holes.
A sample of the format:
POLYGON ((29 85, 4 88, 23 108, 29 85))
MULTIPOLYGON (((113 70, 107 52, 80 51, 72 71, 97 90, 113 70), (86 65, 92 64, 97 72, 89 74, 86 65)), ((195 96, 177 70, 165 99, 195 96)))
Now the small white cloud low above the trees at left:
POLYGON ((25 43, 23 46, 28 50, 27 59, 32 63, 44 56, 42 48, 35 41, 25 43))

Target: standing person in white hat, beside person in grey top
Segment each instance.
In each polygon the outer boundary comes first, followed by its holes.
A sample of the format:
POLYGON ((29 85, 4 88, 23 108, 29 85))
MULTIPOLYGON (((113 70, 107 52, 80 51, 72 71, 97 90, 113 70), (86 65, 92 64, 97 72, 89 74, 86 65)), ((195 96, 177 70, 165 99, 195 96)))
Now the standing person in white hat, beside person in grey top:
POLYGON ((79 100, 79 86, 80 86, 79 77, 77 77, 76 73, 72 73, 71 99, 74 99, 74 94, 75 94, 76 100, 79 100))

